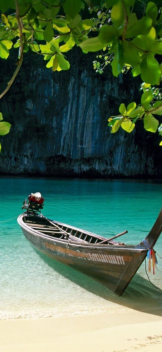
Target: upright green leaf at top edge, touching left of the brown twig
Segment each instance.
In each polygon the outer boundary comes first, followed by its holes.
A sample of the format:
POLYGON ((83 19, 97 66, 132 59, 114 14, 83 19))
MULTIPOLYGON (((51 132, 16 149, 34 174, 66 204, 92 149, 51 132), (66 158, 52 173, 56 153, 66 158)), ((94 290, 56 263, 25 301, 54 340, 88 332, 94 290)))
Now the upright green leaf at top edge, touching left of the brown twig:
POLYGON ((124 14, 124 6, 122 0, 119 0, 111 10, 111 20, 114 24, 114 27, 117 29, 121 29, 124 25, 125 14, 124 14))

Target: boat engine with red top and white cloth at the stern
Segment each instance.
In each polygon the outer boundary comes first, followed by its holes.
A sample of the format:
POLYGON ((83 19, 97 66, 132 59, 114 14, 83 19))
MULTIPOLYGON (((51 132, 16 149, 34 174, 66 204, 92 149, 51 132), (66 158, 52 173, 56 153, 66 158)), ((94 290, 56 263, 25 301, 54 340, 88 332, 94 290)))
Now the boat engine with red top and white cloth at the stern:
POLYGON ((27 209, 27 210, 35 210, 36 212, 40 212, 41 209, 44 207, 44 198, 41 196, 39 192, 37 193, 31 193, 28 196, 28 202, 25 200, 23 202, 23 206, 21 209, 27 209))

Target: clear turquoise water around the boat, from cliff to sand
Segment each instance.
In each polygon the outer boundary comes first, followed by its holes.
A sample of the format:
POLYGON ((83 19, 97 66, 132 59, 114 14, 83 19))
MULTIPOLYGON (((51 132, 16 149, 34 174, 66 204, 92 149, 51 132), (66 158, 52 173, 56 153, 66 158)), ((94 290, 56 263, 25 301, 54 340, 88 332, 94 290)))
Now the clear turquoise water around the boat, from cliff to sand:
MULTIPOLYGON (((155 181, 1 177, 0 319, 162 308, 162 292, 149 283, 144 263, 118 297, 34 250, 15 218, 31 192, 44 196, 45 216, 108 237, 128 230, 122 241, 131 244, 147 235, 162 206, 162 183, 155 181)), ((162 257, 162 235, 155 250, 162 257)), ((149 277, 162 289, 157 258, 156 274, 149 277)))

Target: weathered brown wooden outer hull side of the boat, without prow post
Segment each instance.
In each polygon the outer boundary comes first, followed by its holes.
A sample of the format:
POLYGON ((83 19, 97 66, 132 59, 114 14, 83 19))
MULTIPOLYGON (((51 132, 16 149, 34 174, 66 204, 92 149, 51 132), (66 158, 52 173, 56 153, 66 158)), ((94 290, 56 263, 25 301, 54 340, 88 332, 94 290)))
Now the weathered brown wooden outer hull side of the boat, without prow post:
POLYGON ((118 295, 123 294, 147 255, 146 249, 129 245, 95 245, 51 238, 28 228, 22 216, 18 223, 26 239, 39 252, 80 271, 118 295))

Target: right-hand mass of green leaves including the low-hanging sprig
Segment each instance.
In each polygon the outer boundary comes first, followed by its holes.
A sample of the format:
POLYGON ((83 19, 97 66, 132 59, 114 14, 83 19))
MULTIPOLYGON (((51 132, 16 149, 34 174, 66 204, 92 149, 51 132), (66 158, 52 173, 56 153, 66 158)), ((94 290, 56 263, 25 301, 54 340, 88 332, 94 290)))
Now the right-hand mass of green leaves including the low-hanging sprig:
MULTIPOLYGON (((107 0, 105 4, 111 8, 111 24, 101 25, 95 39, 87 39, 79 46, 84 52, 103 49, 104 53, 97 56, 102 63, 93 62, 97 72, 102 73, 108 63, 116 77, 131 69, 132 76, 141 75, 141 89, 144 90, 141 105, 136 107, 132 102, 126 108, 122 103, 119 107, 121 115, 109 118, 111 133, 118 131, 119 127, 131 132, 138 120, 143 120, 145 130, 155 133, 159 122, 154 115, 162 115, 162 8, 149 1, 138 19, 133 11, 134 0, 107 0)), ((158 131, 162 135, 162 124, 158 131)))

